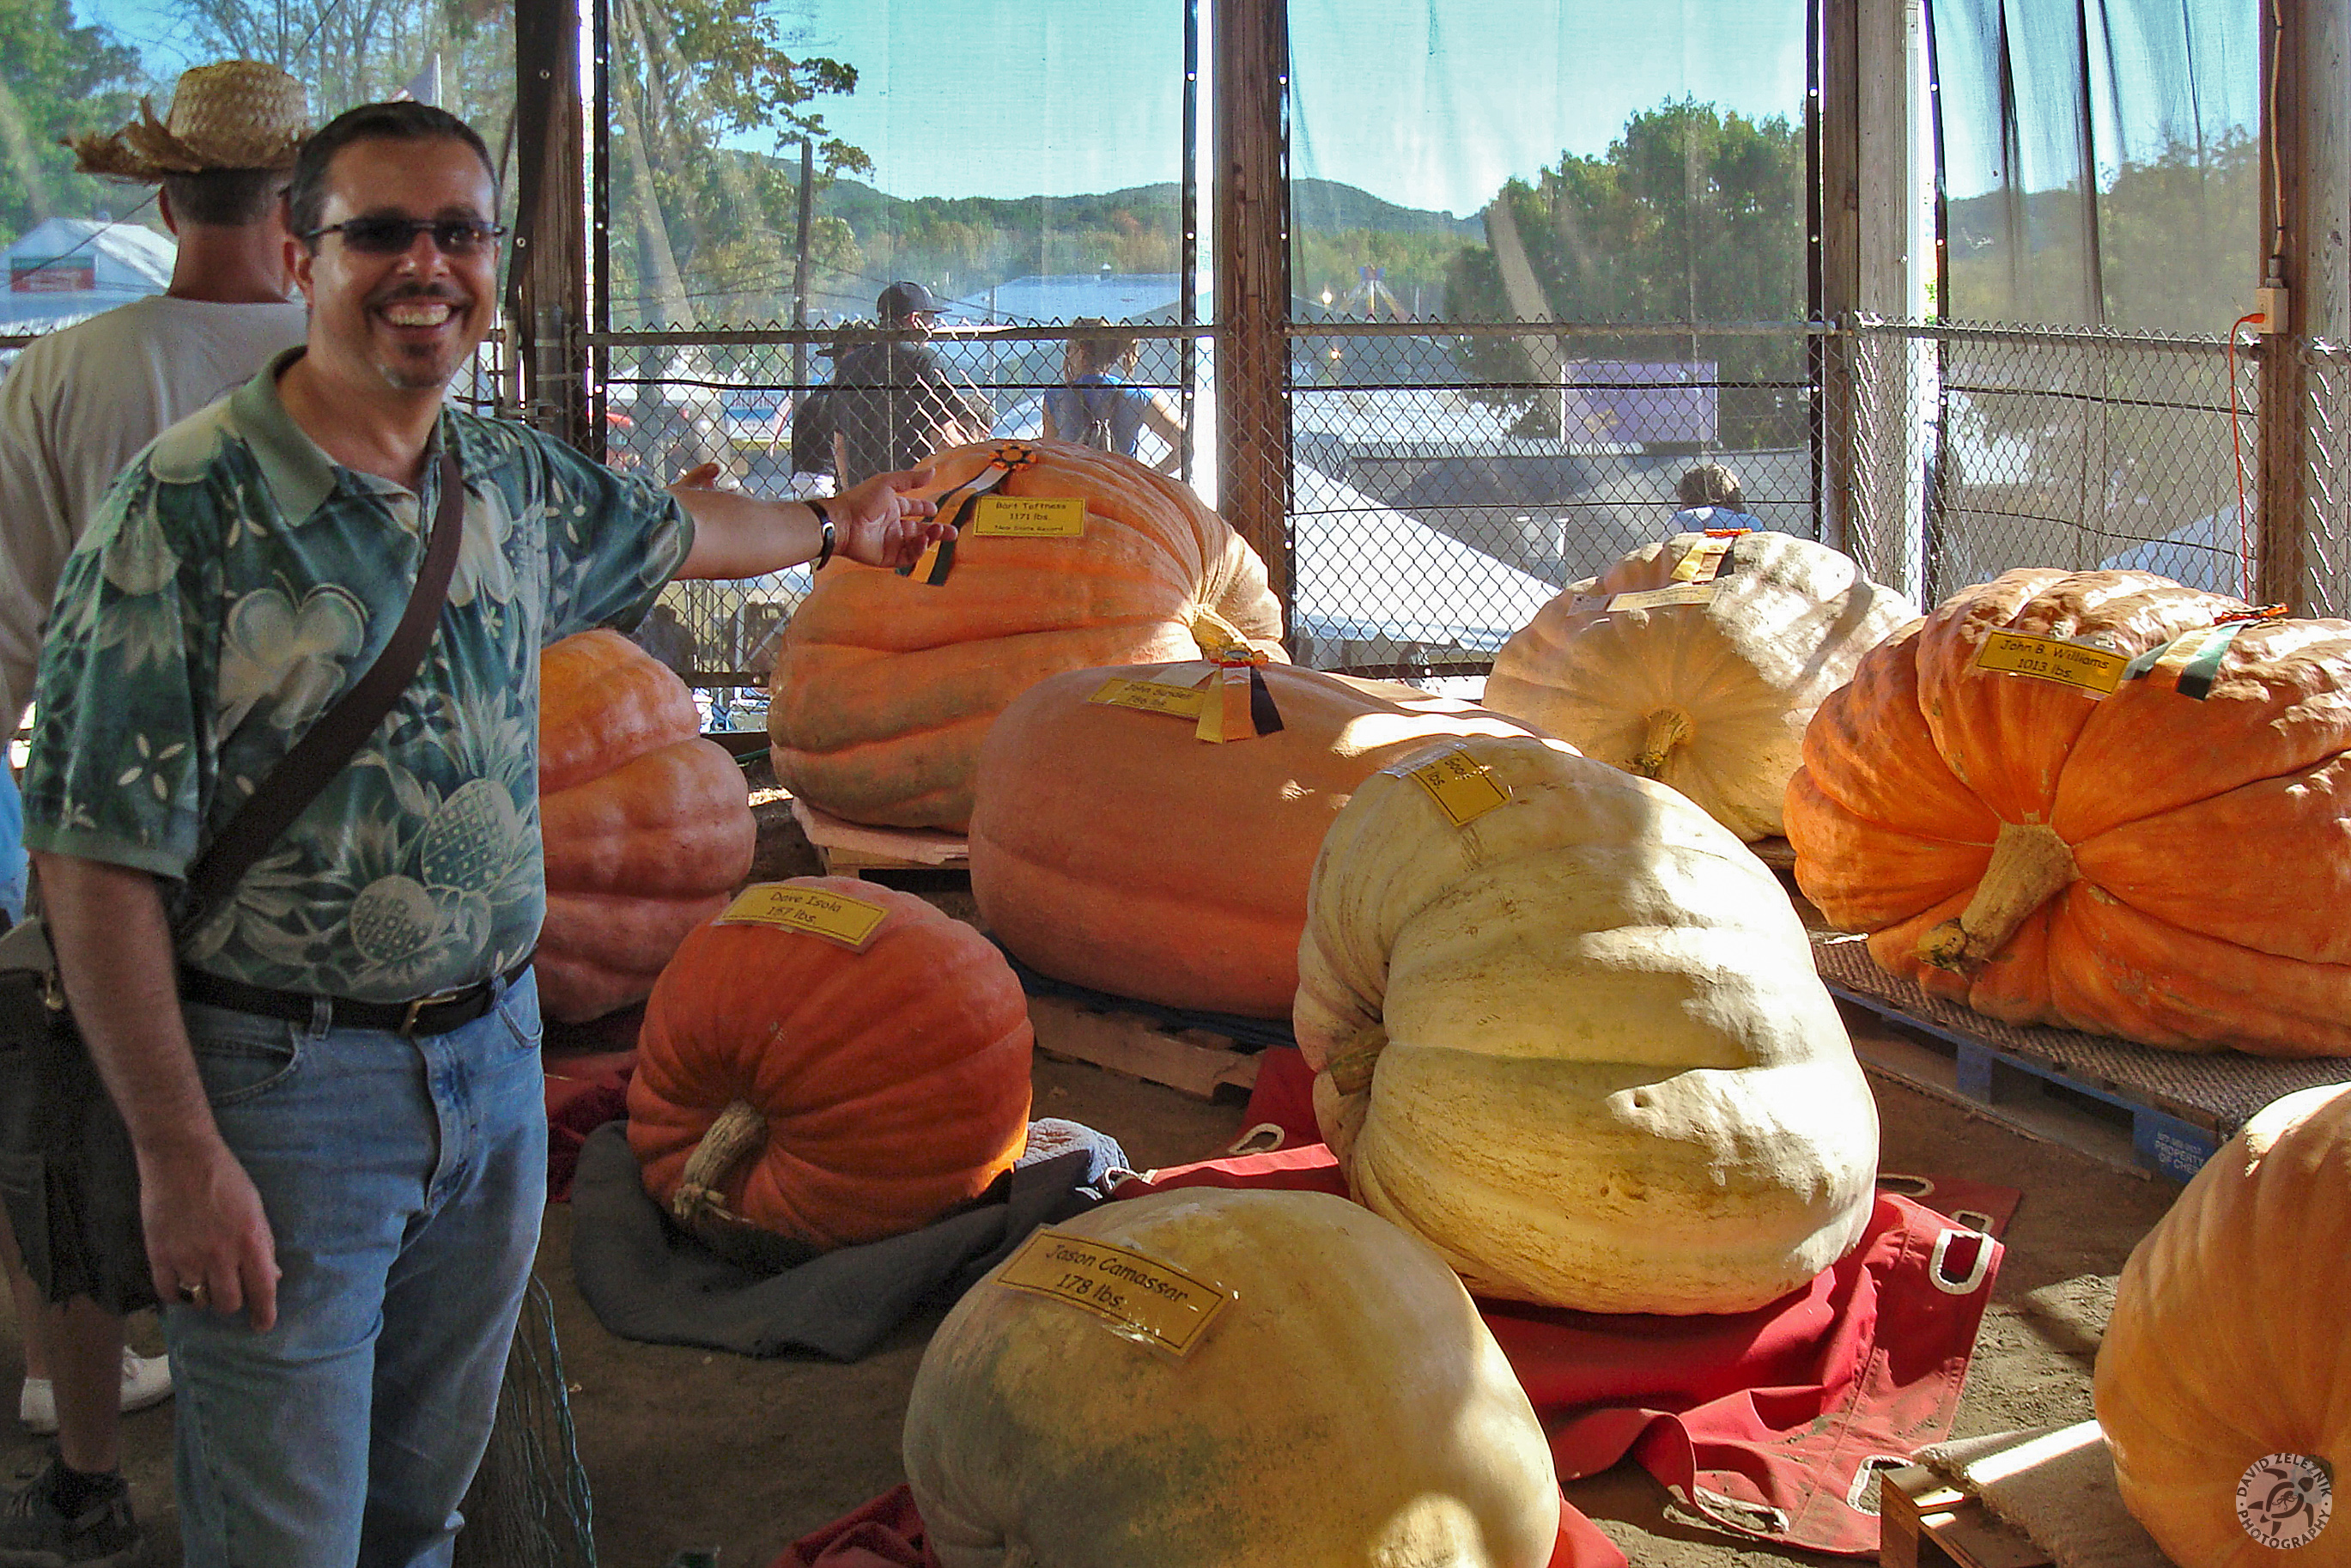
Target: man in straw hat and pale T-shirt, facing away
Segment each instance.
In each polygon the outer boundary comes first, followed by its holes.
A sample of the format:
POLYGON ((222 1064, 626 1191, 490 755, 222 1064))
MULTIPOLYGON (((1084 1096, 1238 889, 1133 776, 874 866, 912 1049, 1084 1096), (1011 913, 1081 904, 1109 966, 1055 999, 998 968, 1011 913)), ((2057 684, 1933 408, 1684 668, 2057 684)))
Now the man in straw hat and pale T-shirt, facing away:
MULTIPOLYGON (((179 78, 172 113, 78 143, 80 169, 160 183, 179 240, 172 287, 28 346, 0 383, 0 729, 33 689, 56 576, 122 465, 162 428, 299 343, 280 193, 308 134, 301 82, 223 61, 179 78)), ((0 790, 14 780, 0 769, 0 790)), ((122 1488, 118 1408, 172 1392, 162 1356, 125 1349, 122 1321, 87 1298, 38 1300, 0 1215, 0 1258, 26 1324, 19 1418, 56 1432, 56 1455, 0 1512, 0 1561, 82 1563, 136 1530, 122 1488)))

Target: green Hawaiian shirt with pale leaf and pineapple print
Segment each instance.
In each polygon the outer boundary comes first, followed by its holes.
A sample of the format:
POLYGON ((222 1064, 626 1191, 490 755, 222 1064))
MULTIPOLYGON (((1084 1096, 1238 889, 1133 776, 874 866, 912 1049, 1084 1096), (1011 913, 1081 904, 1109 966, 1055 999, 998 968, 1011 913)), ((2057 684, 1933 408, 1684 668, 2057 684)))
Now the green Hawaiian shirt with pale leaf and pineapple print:
POLYGON ((465 531, 423 668, 179 943, 183 964, 252 985, 404 1001, 538 940, 538 649, 635 623, 694 524, 562 442, 456 409, 421 494, 341 468, 277 402, 299 353, 155 437, 68 559, 26 844, 179 879, 390 639, 454 442, 465 531))

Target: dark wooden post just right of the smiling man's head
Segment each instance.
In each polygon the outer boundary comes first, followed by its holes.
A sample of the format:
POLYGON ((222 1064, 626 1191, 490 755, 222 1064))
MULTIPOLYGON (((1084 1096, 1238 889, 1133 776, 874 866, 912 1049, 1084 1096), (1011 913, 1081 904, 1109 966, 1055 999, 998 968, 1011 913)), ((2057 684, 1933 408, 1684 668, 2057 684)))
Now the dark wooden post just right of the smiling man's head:
MULTIPOLYGON (((515 0, 515 254, 505 329, 527 418, 602 458, 588 418, 588 205, 581 0, 515 0)), ((590 0, 602 2, 602 0, 590 0)))

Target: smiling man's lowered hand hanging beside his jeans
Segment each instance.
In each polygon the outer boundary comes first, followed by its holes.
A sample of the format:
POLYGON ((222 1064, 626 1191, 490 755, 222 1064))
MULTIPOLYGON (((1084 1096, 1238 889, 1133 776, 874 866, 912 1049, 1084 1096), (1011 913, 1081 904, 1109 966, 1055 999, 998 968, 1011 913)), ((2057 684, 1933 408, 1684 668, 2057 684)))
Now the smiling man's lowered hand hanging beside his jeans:
POLYGON ((277 1244, 261 1194, 219 1135, 139 1154, 139 1220, 155 1295, 256 1331, 277 1321, 277 1244))

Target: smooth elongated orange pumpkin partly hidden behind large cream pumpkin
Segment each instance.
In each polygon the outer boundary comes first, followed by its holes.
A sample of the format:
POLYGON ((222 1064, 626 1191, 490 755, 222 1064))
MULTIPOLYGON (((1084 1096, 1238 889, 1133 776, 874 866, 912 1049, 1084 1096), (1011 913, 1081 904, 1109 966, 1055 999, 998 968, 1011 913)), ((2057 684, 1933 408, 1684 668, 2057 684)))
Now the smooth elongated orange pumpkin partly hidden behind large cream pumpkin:
POLYGON ((1262 672, 1281 729, 1253 741, 1089 701, 1147 675, 1056 675, 1004 710, 980 748, 971 891, 1020 961, 1168 1006, 1288 1018, 1314 851, 1354 788, 1444 736, 1533 733, 1288 665, 1262 672))

